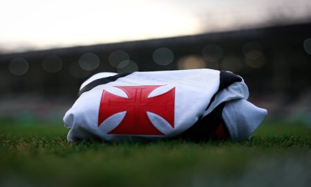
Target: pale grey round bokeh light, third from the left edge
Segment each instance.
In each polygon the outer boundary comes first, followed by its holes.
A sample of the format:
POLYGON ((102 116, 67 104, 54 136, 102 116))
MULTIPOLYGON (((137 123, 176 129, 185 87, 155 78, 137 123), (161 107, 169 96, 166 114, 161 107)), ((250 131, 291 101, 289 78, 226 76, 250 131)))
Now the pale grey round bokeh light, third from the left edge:
POLYGON ((79 58, 79 66, 86 71, 93 71, 100 65, 100 57, 94 53, 85 53, 79 58))

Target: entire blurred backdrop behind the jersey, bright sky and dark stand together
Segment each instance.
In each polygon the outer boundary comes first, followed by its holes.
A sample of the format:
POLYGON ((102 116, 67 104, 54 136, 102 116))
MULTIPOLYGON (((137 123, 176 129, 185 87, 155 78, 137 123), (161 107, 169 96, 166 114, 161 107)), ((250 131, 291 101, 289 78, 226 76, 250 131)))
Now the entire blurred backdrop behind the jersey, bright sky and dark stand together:
POLYGON ((62 118, 103 72, 243 76, 269 118, 311 127, 309 0, 0 0, 0 118, 62 118))

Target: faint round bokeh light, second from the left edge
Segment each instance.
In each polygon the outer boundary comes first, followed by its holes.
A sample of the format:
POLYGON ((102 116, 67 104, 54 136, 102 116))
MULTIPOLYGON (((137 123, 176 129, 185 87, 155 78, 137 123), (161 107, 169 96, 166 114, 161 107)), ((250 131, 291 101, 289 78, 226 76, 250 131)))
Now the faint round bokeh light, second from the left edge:
POLYGON ((49 55, 42 61, 42 66, 48 73, 56 73, 63 67, 63 61, 57 55, 49 55))

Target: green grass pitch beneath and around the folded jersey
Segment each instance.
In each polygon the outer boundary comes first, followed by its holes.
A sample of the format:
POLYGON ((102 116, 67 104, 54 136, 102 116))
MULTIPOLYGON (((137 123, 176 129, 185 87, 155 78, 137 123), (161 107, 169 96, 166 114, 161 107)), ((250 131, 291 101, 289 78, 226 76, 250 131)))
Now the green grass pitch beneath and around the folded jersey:
POLYGON ((248 141, 79 143, 62 121, 0 123, 0 186, 310 186, 311 129, 265 121, 248 141))

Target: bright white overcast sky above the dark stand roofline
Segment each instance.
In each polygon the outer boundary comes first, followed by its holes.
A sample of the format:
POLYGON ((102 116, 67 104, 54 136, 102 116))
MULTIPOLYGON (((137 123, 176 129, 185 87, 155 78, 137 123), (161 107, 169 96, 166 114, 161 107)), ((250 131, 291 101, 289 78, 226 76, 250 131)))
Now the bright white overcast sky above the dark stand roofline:
POLYGON ((0 53, 310 21, 308 0, 0 0, 0 53))

